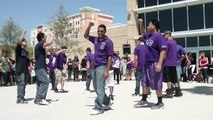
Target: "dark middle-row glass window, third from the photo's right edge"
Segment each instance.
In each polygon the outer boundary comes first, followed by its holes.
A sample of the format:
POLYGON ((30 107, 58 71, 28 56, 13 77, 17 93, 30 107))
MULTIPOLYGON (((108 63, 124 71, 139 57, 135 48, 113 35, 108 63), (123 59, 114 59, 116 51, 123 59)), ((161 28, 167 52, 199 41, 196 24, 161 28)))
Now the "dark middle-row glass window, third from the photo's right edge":
POLYGON ((187 30, 187 12, 186 8, 177 8, 173 10, 174 31, 187 30))

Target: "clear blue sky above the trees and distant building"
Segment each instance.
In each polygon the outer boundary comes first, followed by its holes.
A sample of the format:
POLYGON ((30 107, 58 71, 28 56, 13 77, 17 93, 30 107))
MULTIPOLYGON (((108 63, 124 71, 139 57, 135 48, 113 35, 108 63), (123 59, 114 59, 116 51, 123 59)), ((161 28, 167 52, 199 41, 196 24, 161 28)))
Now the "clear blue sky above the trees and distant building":
POLYGON ((127 23, 126 0, 0 0, 0 29, 12 18, 21 29, 27 30, 29 39, 30 31, 37 25, 47 24, 61 5, 69 15, 88 6, 113 16, 113 23, 127 23))

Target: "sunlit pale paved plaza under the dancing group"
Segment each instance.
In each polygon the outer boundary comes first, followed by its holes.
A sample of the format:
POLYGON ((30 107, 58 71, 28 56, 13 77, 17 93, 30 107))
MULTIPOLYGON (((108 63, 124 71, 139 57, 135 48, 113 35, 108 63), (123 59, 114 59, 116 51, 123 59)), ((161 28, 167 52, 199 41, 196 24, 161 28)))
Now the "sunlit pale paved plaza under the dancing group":
MULTIPOLYGON (((181 83, 183 97, 163 99, 165 108, 152 110, 134 108, 141 99, 133 97, 135 81, 121 81, 115 85, 112 110, 91 116, 95 93, 85 91, 85 82, 67 82, 68 93, 48 91, 48 106, 34 104, 35 85, 26 87, 28 104, 16 104, 16 86, 0 87, 0 120, 211 120, 213 113, 213 84, 181 83)), ((164 90, 165 90, 164 84, 164 90)), ((154 91, 148 101, 157 99, 154 91)))

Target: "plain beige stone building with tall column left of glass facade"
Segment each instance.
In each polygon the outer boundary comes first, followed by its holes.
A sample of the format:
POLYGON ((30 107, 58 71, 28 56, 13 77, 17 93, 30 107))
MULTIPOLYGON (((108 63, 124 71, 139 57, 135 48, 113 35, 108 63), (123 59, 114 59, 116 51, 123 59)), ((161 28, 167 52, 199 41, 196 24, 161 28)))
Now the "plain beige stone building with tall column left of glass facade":
MULTIPOLYGON (((130 52, 129 56, 133 59, 133 52, 134 48, 137 44, 137 38, 138 38, 138 28, 136 25, 137 21, 137 15, 135 14, 134 10, 138 8, 137 0, 127 0, 127 25, 123 24, 113 24, 107 26, 107 33, 106 35, 109 36, 109 38, 114 43, 114 50, 119 51, 120 55, 123 56, 123 45, 129 44, 130 45, 130 52)), ((126 11, 124 11, 126 12, 126 11)), ((93 27, 91 30, 91 35, 97 35, 97 26, 93 27)), ((87 41, 83 38, 83 34, 79 36, 80 44, 79 46, 83 48, 91 47, 93 49, 92 43, 87 41)), ((84 54, 85 55, 85 54, 84 54)), ((80 55, 79 58, 82 58, 84 55, 80 55)))

